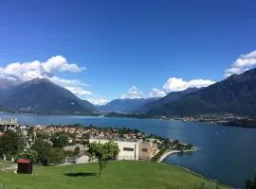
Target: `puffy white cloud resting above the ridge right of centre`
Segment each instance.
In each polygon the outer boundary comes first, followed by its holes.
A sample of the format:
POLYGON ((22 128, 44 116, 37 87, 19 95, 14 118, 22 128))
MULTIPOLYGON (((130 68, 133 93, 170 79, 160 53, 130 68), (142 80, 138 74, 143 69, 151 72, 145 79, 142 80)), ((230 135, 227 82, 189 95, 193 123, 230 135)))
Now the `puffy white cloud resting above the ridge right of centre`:
POLYGON ((166 93, 184 91, 188 88, 202 88, 208 87, 215 83, 210 79, 192 79, 189 81, 183 80, 182 78, 171 77, 163 85, 163 89, 166 93))

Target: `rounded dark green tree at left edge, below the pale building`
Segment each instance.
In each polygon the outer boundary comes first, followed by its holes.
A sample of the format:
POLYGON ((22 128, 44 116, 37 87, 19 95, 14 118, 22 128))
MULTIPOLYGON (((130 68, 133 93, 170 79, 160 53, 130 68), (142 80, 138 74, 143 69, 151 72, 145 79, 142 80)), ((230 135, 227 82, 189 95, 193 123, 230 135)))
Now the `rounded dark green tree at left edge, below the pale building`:
POLYGON ((17 132, 8 129, 5 134, 0 137, 0 149, 2 153, 9 156, 14 156, 20 150, 21 138, 17 132))

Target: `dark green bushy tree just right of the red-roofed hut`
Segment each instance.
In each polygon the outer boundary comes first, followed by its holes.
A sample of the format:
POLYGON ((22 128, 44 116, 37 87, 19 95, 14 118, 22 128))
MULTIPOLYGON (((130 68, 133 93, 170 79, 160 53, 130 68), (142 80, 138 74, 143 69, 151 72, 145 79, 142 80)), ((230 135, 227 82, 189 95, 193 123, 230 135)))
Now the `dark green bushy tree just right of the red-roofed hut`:
POLYGON ((43 139, 37 139, 35 141, 35 144, 31 146, 31 149, 34 149, 38 154, 38 162, 41 162, 43 165, 48 165, 49 163, 49 153, 52 149, 52 145, 43 140, 43 139))

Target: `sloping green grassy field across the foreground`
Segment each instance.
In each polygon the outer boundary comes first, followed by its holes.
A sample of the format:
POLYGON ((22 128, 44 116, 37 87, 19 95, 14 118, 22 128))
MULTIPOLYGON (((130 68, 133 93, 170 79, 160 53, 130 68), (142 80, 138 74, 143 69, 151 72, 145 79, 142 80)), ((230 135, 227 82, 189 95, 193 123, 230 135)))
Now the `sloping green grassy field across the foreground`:
POLYGON ((192 175, 180 167, 164 163, 110 162, 103 169, 101 178, 97 176, 98 171, 98 163, 58 167, 35 166, 33 175, 0 171, 0 183, 5 182, 10 189, 181 189, 202 188, 199 186, 205 181, 208 188, 216 188, 216 184, 210 181, 192 175))

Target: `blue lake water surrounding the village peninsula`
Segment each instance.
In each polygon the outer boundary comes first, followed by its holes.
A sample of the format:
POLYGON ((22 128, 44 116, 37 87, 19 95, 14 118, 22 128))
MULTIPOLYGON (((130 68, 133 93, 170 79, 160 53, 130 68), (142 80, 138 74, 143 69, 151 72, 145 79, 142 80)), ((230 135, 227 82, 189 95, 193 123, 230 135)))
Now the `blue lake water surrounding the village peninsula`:
POLYGON ((174 163, 243 188, 256 171, 256 129, 214 126, 173 120, 105 118, 66 115, 0 114, 3 119, 18 118, 26 124, 93 124, 101 127, 125 127, 181 140, 198 146, 196 152, 172 154, 163 162, 174 163))

